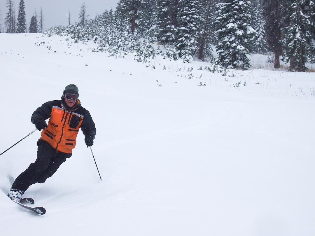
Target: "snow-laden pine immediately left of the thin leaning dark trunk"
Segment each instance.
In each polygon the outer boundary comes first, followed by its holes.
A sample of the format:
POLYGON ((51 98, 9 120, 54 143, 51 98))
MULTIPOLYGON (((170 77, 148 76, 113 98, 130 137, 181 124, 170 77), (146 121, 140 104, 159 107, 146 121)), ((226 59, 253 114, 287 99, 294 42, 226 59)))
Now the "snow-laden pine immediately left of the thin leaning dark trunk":
POLYGON ((200 37, 199 0, 179 0, 175 47, 184 62, 190 62, 197 50, 200 37))

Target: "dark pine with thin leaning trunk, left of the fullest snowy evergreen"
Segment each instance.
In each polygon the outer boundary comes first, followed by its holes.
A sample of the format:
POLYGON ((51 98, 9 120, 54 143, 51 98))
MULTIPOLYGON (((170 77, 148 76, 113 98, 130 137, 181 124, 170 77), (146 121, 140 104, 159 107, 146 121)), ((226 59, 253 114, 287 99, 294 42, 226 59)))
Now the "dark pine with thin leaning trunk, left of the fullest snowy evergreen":
POLYGON ((212 56, 212 47, 211 43, 213 39, 211 36, 214 35, 214 1, 213 0, 203 0, 201 4, 204 9, 201 14, 201 37, 198 41, 198 59, 205 60, 207 56, 212 56))

